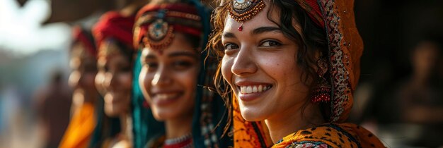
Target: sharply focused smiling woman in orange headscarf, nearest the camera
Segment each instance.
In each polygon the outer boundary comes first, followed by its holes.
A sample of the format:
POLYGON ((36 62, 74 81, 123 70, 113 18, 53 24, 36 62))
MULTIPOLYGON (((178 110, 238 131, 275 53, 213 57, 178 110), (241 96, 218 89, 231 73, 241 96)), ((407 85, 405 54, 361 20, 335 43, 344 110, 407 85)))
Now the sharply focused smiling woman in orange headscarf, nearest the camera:
POLYGON ((352 0, 222 1, 209 48, 241 113, 234 114, 234 142, 249 134, 265 147, 256 123, 264 121, 273 147, 384 147, 368 130, 343 123, 363 50, 352 7, 352 0), (241 118, 256 123, 253 134, 238 129, 248 127, 241 118))

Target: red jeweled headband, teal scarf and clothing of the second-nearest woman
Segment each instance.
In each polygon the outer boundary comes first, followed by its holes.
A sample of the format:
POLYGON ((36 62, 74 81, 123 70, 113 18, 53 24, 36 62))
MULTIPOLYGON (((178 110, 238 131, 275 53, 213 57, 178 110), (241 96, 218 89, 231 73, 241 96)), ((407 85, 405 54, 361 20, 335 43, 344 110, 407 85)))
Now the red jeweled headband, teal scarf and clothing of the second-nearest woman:
MULTIPOLYGON (((185 36, 200 38, 204 43, 201 47, 204 48, 210 32, 209 14, 209 10, 199 1, 191 0, 186 4, 148 4, 137 14, 134 25, 134 46, 151 47, 161 52, 171 43, 173 34, 180 32, 185 36)), ((147 130, 150 139, 146 147, 229 147, 232 145, 227 135, 222 137, 227 122, 223 100, 217 93, 209 90, 213 86, 212 78, 217 69, 217 62, 214 62, 211 57, 206 58, 206 51, 202 49, 197 49, 197 51, 202 52, 200 54, 200 66, 202 67, 195 90, 191 135, 184 136, 181 140, 180 138, 172 141, 165 140, 164 130, 154 133, 151 131, 153 127, 149 125, 147 130)), ((134 68, 141 68, 139 65, 140 54, 139 51, 134 68)), ((138 75, 134 77, 134 79, 137 78, 138 75)), ((136 82, 138 80, 134 80, 134 83, 136 82)), ((152 116, 146 116, 144 120, 152 121, 154 119, 152 116)))

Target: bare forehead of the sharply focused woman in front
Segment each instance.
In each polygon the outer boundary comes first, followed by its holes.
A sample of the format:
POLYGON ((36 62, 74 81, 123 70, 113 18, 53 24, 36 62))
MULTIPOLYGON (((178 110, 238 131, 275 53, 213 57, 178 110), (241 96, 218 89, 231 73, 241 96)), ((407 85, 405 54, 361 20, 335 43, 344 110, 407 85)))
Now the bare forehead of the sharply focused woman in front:
POLYGON ((257 15, 255 15, 253 18, 251 18, 251 20, 246 20, 243 23, 237 22, 236 20, 231 18, 230 14, 227 15, 227 17, 225 18, 226 23, 224 25, 223 32, 240 33, 240 31, 238 30, 238 27, 240 27, 241 25, 243 25, 243 30, 241 31, 241 33, 248 33, 257 27, 262 27, 262 26, 277 27, 277 24, 273 23, 267 17, 267 15, 269 13, 270 18, 274 19, 275 22, 279 23, 278 21, 276 21, 278 19, 275 19, 275 18, 280 18, 279 17, 280 15, 278 13, 279 11, 277 10, 277 7, 271 6, 272 4, 270 4, 270 1, 263 0, 263 2, 265 2, 265 5, 266 5, 265 8, 263 8, 262 11, 260 11, 257 15))

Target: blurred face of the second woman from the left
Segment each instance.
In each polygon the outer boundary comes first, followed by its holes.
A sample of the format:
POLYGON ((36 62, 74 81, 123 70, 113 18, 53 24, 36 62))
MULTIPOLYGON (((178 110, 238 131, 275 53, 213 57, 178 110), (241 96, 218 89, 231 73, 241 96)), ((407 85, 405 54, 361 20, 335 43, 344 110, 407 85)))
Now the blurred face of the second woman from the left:
POLYGON ((130 108, 132 66, 130 58, 117 49, 115 42, 103 42, 98 58, 96 86, 105 99, 105 113, 116 117, 130 108))

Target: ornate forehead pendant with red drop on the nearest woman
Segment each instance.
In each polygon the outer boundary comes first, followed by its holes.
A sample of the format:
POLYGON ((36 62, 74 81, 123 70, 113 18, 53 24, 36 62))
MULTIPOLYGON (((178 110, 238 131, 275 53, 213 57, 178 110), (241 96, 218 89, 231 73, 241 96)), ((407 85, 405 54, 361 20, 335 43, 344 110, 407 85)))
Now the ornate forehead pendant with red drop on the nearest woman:
POLYGON ((243 30, 243 22, 251 20, 265 6, 266 4, 263 0, 232 0, 231 8, 229 9, 231 18, 242 23, 238 27, 238 31, 243 30))

